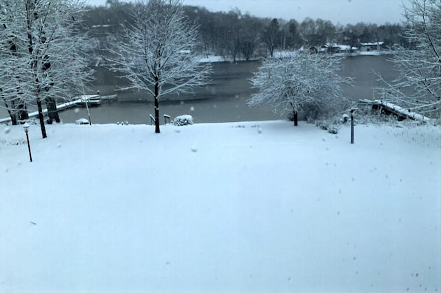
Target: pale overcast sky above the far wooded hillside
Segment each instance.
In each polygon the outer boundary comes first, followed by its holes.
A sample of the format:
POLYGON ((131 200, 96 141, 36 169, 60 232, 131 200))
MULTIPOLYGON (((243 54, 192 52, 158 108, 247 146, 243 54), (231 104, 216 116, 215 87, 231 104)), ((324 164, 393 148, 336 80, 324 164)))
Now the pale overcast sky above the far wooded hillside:
MULTIPOLYGON (((127 0, 125 0, 127 1, 127 0)), ((408 0, 183 0, 185 5, 204 6, 210 11, 228 12, 238 8, 256 17, 296 19, 306 17, 341 23, 399 23, 402 3, 408 0)), ((86 0, 90 5, 105 5, 106 0, 86 0)))

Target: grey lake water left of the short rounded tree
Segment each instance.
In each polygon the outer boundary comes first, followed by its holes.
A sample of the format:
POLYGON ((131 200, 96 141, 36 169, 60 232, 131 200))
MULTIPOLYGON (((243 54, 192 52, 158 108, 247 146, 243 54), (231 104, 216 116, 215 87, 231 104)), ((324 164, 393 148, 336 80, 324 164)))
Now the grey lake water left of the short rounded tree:
MULTIPOLYGON (((190 114, 195 123, 280 119, 280 115, 274 114, 269 107, 249 108, 246 105, 250 95, 256 92, 250 87, 249 78, 256 72, 258 65, 258 61, 213 63, 214 73, 209 85, 196 88, 193 93, 161 97, 161 123, 163 114, 170 115, 172 119, 181 114, 190 114)), ((123 81, 115 78, 112 72, 97 68, 96 89, 101 94, 114 94, 117 86, 123 85, 123 81)), ((154 114, 152 97, 136 90, 116 93, 118 101, 90 109, 92 123, 150 123, 149 115, 154 114)), ((87 117, 85 109, 61 112, 65 123, 82 117, 87 117)))

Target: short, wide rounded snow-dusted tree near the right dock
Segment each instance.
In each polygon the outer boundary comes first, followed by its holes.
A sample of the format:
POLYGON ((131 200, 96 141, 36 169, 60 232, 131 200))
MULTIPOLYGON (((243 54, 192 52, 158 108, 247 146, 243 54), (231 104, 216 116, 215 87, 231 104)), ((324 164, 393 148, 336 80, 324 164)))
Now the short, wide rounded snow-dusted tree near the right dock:
POLYGON ((342 110, 347 99, 342 96, 342 84, 351 79, 340 77, 340 58, 328 54, 298 52, 263 61, 251 79, 258 93, 247 101, 249 106, 271 105, 275 113, 305 113, 305 119, 327 117, 342 110))

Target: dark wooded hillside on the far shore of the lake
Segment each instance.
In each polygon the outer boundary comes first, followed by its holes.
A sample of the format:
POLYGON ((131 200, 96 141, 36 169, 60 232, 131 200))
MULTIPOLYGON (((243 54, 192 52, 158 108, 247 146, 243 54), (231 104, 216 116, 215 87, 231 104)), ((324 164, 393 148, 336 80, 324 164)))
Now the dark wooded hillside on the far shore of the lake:
MULTIPOLYGON (((90 7, 85 17, 85 29, 90 29, 96 40, 105 46, 107 37, 121 30, 123 23, 132 21, 129 11, 134 3, 108 0, 106 6, 90 7)), ((409 46, 402 37, 404 26, 399 23, 356 23, 345 26, 329 20, 306 18, 269 19, 254 17, 240 10, 210 12, 206 8, 183 6, 189 21, 198 25, 198 53, 214 54, 249 60, 272 56, 274 50, 295 50, 338 43, 356 47, 360 43, 382 41, 384 46, 409 46)))

